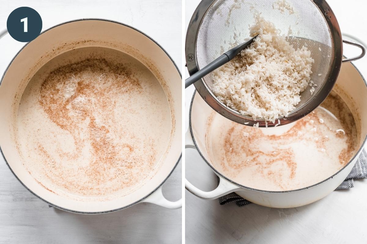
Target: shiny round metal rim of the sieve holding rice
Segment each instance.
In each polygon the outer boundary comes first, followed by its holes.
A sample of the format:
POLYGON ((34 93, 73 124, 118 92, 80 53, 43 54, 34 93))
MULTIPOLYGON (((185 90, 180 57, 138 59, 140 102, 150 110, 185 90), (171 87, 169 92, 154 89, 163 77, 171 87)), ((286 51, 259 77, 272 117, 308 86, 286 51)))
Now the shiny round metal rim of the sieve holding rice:
MULTIPOLYGON (((204 17, 216 1, 217 0, 201 0, 196 10, 194 11, 192 18, 190 19, 185 41, 186 67, 188 68, 188 72, 190 75, 193 75, 197 71, 199 71, 199 64, 197 63, 196 58, 197 37, 204 17)), ((325 0, 310 1, 315 4, 320 13, 322 13, 323 18, 327 23, 329 34, 331 37, 331 48, 333 51, 331 52, 331 63, 328 74, 326 76, 328 78, 326 79, 326 81, 323 82, 323 85, 320 86, 319 89, 317 89, 316 93, 312 96, 311 99, 306 101, 299 108, 292 110, 292 112, 289 113, 287 117, 279 117, 278 119, 280 121, 280 125, 289 124, 293 121, 301 119, 302 117, 308 115, 308 113, 316 109, 333 89, 335 82, 338 78, 339 71, 341 69, 343 53, 342 35, 334 12, 331 10, 330 6, 326 3, 325 0)), ((276 124, 278 124, 278 119, 275 121, 275 123, 272 123, 270 121, 265 123, 264 119, 253 120, 250 116, 243 116, 238 111, 229 108, 224 103, 218 100, 217 96, 212 93, 211 89, 207 86, 206 82, 204 82, 203 78, 195 82, 194 86, 200 96, 204 99, 204 101, 209 106, 211 106, 212 109, 214 109, 216 112, 226 117, 227 119, 230 119, 240 124, 246 123, 246 125, 249 126, 254 126, 255 124, 259 123, 259 127, 274 127, 276 124)))

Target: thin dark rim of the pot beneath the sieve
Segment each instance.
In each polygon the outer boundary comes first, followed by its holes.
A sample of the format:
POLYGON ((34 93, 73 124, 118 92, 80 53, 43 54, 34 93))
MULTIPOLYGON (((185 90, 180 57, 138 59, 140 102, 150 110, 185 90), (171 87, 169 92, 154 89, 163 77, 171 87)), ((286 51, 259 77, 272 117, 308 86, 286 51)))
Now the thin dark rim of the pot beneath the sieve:
MULTIPOLYGON (((359 75, 362 77, 363 79, 363 82, 364 82, 364 85, 366 86, 367 88, 367 82, 366 82, 366 79, 364 79, 363 75, 361 74, 361 72, 358 70, 358 68, 356 67, 356 65, 354 65, 352 62, 350 62, 350 64, 353 65, 353 67, 358 71, 359 75)), ((255 189, 255 188, 251 188, 251 187, 246 187, 244 185, 241 185, 239 183, 237 183, 236 181, 233 181, 231 179, 229 179, 228 177, 224 176, 224 174, 220 173, 217 169, 215 169, 208 161, 207 159, 204 157, 204 155, 201 153, 199 147, 197 147, 197 144, 196 144, 196 140, 195 140, 195 136, 192 132, 192 124, 191 124, 191 109, 192 109, 192 104, 193 104, 193 101, 194 101, 194 98, 195 98, 195 95, 196 95, 196 90, 194 91, 194 94, 192 95, 192 98, 191 98, 191 102, 190 102, 190 111, 189 111, 189 129, 190 129, 190 134, 191 134, 191 138, 195 144, 195 148, 196 150, 198 151, 198 153, 200 154, 201 158, 204 159, 204 161, 206 162, 206 164, 215 172, 215 174, 217 174, 219 177, 222 177, 226 180, 228 180, 229 182, 235 184, 235 185, 238 185, 239 187, 241 188, 245 188, 245 189, 249 189, 251 191, 257 191, 257 192, 265 192, 265 193, 275 193, 275 194, 280 194, 280 193, 291 193, 291 192, 298 192, 298 191, 303 191, 303 190, 306 190, 306 189, 309 189, 309 188, 313 188, 313 187, 316 187, 317 185, 320 185, 320 184, 323 184, 324 182, 330 180, 330 179, 333 179, 334 176, 336 176, 337 174, 339 174, 340 172, 342 172, 355 158, 356 156, 360 153, 360 151, 363 149, 364 145, 366 144, 366 141, 367 141, 367 135, 366 137, 364 138, 363 140, 363 143, 362 145, 360 146, 360 148, 358 149, 358 151, 355 153, 355 155, 353 155, 353 157, 349 160, 348 164, 344 165, 343 168, 341 168, 340 170, 338 170, 338 172, 336 172, 335 174, 333 174, 332 176, 328 177, 327 179, 323 180, 323 181, 320 181, 319 183, 316 183, 316 184, 313 184, 313 185, 310 185, 308 187, 303 187, 303 188, 299 188, 299 189, 294 189, 294 190, 288 190, 288 191, 267 191, 267 190, 260 190, 260 189, 255 189)), ((200 95, 200 94, 199 94, 200 95)))

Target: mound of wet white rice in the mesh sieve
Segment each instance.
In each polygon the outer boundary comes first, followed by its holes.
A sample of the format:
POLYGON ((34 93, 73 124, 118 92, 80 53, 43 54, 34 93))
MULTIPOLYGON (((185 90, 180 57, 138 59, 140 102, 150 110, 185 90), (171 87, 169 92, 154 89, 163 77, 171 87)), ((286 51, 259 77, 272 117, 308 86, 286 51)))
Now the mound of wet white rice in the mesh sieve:
POLYGON ((255 14, 252 44, 212 74, 212 91, 221 102, 252 119, 275 122, 299 103, 310 83, 313 59, 304 46, 294 49, 273 23, 255 14))

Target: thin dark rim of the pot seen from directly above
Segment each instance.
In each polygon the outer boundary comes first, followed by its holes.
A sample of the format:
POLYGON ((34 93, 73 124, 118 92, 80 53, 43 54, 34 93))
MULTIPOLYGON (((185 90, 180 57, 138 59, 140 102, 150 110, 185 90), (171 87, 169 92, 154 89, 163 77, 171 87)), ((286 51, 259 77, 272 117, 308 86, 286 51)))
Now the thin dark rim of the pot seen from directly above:
MULTIPOLYGON (((142 31, 130 26, 130 25, 127 25, 127 24, 124 24, 124 23, 121 23, 121 22, 117 22, 115 20, 110 20, 110 19, 99 19, 99 18, 84 18, 84 19, 75 19, 75 20, 69 20, 69 21, 66 21, 66 22, 63 22, 63 23, 60 23, 58 25, 55 25, 55 26, 52 26, 44 31, 42 31, 40 33, 43 34, 45 33, 46 31, 48 30, 51 30, 51 29, 54 29, 55 27, 58 27, 58 26, 61 26, 61 25, 65 25, 65 24, 68 24, 68 23, 72 23, 72 22, 77 22, 77 21, 84 21, 84 20, 100 20, 100 21, 107 21, 107 22, 112 22, 112 23, 116 23, 116 24, 120 24, 120 25, 123 25, 123 26, 126 26, 130 29, 133 29, 135 31, 138 31, 139 33, 145 35, 146 37, 148 37, 151 41, 153 41, 157 46, 159 46, 160 49, 163 50, 164 53, 166 53, 166 55, 168 56, 168 58, 170 58, 170 60, 172 61, 172 63, 174 64, 174 66, 176 67, 177 69, 177 72, 178 74, 181 76, 182 78, 182 75, 181 75, 181 72, 179 71, 178 67, 177 67, 177 64, 175 63, 175 61, 172 59, 172 57, 167 53, 167 51, 161 46, 158 44, 158 42, 156 42, 152 37, 150 37, 149 35, 143 33, 142 31)), ((0 86, 1 86, 1 83, 3 82, 3 79, 4 79, 4 76, 6 74, 6 72, 8 71, 8 68, 10 67, 10 65, 13 63, 14 59, 18 56, 18 54, 23 50, 23 48, 25 48, 30 42, 27 42, 24 46, 22 46, 22 48, 15 54, 15 56, 12 58, 12 60, 10 61, 10 63, 8 64, 8 66, 6 67, 5 71, 4 71, 4 74, 3 76, 1 77, 1 80, 0 80, 0 86)), ((4 156, 4 153, 3 153, 3 150, 1 149, 1 146, 0 146, 0 152, 1 152, 1 155, 3 156, 4 158, 4 161, 6 162, 6 164, 8 165, 10 171, 14 174, 15 178, 17 178, 17 180, 26 188, 28 189, 28 191, 30 191, 34 196, 36 196, 37 198, 43 200, 44 202, 50 204, 51 206, 53 207, 56 207, 58 209, 61 209, 61 210, 65 210, 65 211, 68 211, 68 212, 71 212, 71 213, 79 213, 79 214, 103 214, 103 213, 111 213, 111 212, 114 212, 114 211, 118 211, 118 210, 121 210, 121 209, 126 209, 127 207, 130 207, 134 204, 137 204, 139 202, 141 202, 142 200, 146 199, 148 196, 152 195, 153 192, 155 192, 159 187, 161 187, 161 185, 163 185, 164 182, 166 182, 166 180, 168 179, 168 177, 171 176, 173 170, 176 168, 176 166, 178 165, 178 162, 180 161, 181 157, 182 157, 182 153, 179 155, 178 159, 177 159, 177 162, 175 163, 175 165, 172 167, 172 170, 171 172, 167 175, 167 177, 152 191, 150 192, 148 195, 144 196, 143 198, 137 200, 136 202, 134 203, 131 203, 131 204, 128 204, 126 206, 123 206, 123 207, 120 207, 120 208, 117 208, 117 209, 112 209, 112 210, 106 210, 106 211, 98 211, 98 212, 85 212, 85 211, 76 211, 76 210, 71 210, 71 209, 66 209, 64 207, 61 207, 61 206, 58 206, 56 204, 53 204, 43 198, 41 198, 39 195, 35 194, 32 190, 30 190, 19 178, 18 176, 14 173, 14 171, 11 169, 10 165, 8 164, 8 161, 6 160, 5 156, 4 156)))

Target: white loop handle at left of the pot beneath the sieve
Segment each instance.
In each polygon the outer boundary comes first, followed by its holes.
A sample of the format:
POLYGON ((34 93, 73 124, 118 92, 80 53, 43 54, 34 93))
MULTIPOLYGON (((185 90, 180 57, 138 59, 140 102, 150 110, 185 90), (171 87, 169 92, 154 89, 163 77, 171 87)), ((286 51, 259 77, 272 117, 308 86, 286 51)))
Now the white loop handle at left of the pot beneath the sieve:
MULTIPOLYGON (((195 143, 191 136, 190 129, 188 129, 188 131, 185 134, 185 142, 186 142, 185 149, 186 148, 196 149, 195 143)), ((187 179, 185 179, 185 188, 195 196, 206 200, 217 199, 220 198, 221 196, 227 195, 228 193, 241 189, 241 187, 239 187, 236 184, 233 184, 232 182, 224 179, 223 177, 221 176, 218 177, 219 177, 219 185, 212 191, 201 191, 199 188, 191 184, 187 179)))

